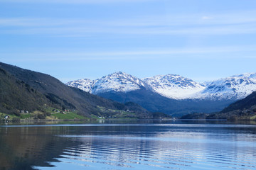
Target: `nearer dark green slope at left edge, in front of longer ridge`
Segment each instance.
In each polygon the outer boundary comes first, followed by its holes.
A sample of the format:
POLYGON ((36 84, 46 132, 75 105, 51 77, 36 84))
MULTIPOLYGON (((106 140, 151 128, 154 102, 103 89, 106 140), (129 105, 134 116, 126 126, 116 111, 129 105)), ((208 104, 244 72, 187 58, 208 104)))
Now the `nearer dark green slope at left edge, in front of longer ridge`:
POLYGON ((0 68, 0 112, 41 111, 45 104, 50 104, 46 96, 0 68))

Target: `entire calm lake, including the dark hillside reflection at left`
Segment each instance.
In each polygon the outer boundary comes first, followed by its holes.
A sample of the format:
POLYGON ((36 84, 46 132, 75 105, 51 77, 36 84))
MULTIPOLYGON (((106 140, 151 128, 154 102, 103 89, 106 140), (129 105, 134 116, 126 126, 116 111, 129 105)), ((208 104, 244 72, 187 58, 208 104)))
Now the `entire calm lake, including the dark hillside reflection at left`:
POLYGON ((3 169, 256 169, 256 125, 0 125, 3 169))

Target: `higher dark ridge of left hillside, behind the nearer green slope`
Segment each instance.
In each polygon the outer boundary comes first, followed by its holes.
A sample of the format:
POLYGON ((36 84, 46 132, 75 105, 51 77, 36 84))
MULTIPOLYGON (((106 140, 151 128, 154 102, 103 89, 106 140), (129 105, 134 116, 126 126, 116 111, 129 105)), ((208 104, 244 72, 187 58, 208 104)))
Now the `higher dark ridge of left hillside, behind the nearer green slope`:
MULTIPOLYGON (((62 108, 75 109, 78 113, 85 115, 88 118, 90 118, 91 115, 102 115, 102 113, 104 113, 103 110, 99 109, 99 106, 101 108, 103 107, 112 110, 120 108, 120 106, 124 109, 129 108, 128 106, 124 106, 124 104, 66 86, 58 79, 47 74, 21 69, 1 62, 0 68, 9 72, 15 79, 18 79, 18 81, 22 81, 25 84, 28 84, 28 86, 31 86, 31 88, 36 89, 36 91, 39 91, 52 103, 56 103, 59 106, 62 106, 62 108)), ((139 108, 139 110, 140 109, 141 108, 139 108)), ((152 115, 146 111, 146 113, 142 113, 143 118, 146 117, 145 114, 149 114, 149 117, 152 115)), ((138 113, 138 117, 139 116, 138 113)))

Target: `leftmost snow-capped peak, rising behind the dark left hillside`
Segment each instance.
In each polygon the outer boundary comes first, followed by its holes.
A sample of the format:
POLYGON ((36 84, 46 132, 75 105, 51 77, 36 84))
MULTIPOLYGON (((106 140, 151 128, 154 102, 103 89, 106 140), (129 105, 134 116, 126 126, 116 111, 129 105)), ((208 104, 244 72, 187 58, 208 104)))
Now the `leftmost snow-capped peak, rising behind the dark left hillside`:
POLYGON ((91 94, 102 94, 109 91, 128 92, 141 89, 142 87, 150 88, 141 79, 124 72, 114 72, 96 80, 80 79, 70 81, 67 85, 77 87, 91 94))

